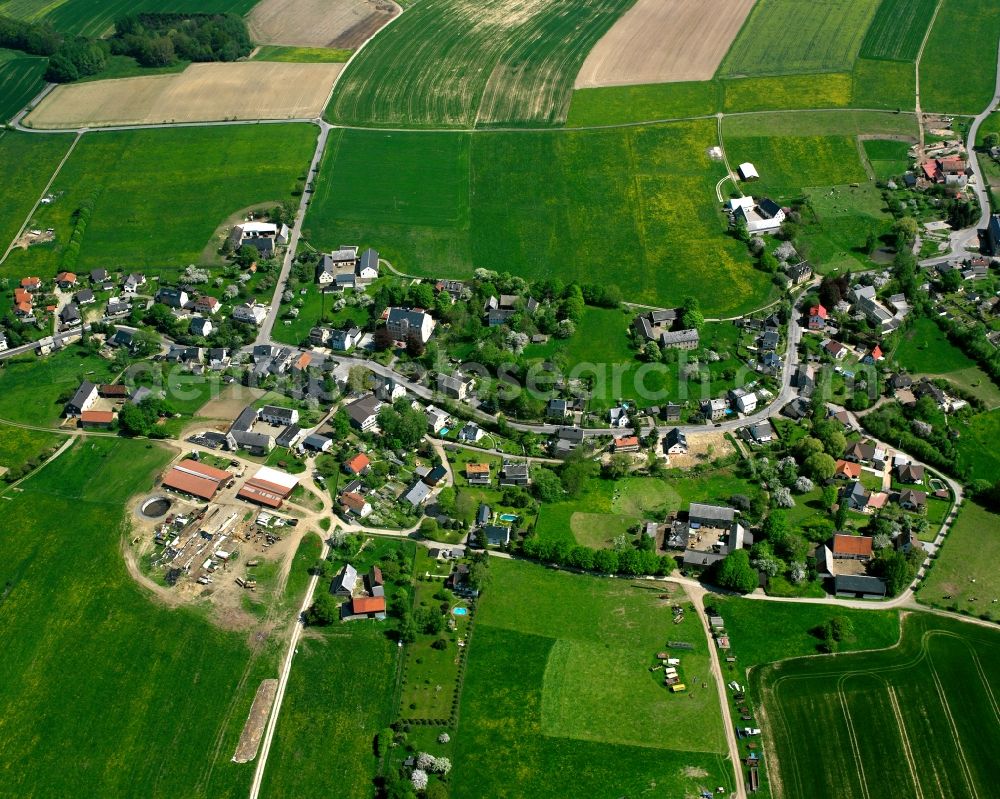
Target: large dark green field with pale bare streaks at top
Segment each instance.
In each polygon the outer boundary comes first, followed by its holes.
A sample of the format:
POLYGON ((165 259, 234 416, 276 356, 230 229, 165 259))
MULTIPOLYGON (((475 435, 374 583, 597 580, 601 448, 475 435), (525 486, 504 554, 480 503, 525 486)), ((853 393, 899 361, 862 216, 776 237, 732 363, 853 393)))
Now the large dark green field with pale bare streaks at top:
POLYGON ((554 125, 633 0, 421 0, 351 62, 327 117, 405 127, 554 125))

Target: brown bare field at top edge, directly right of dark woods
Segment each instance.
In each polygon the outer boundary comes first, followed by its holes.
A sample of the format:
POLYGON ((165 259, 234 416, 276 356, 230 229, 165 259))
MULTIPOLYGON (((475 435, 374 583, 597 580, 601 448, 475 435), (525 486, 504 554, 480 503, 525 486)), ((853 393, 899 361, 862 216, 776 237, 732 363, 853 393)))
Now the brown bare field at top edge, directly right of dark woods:
POLYGON ((264 44, 354 50, 399 12, 393 0, 263 0, 248 22, 264 44))

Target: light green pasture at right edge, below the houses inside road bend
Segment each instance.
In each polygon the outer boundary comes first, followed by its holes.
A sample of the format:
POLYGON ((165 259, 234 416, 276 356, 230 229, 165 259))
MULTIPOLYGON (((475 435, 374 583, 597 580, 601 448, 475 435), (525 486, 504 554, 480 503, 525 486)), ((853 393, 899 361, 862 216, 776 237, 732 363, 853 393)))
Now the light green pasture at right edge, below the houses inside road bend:
POLYGON ((966 503, 948 532, 917 598, 925 605, 1000 616, 1000 517, 966 503))

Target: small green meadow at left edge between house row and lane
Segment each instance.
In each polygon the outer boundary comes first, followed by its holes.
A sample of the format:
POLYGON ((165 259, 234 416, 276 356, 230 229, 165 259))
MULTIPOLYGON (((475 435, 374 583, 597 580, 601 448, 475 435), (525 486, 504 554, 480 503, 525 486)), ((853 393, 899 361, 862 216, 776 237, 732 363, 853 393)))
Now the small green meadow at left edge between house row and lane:
POLYGON ((59 398, 84 380, 103 383, 112 377, 111 364, 70 346, 45 358, 8 358, 0 369, 0 419, 55 426, 65 401, 59 398))

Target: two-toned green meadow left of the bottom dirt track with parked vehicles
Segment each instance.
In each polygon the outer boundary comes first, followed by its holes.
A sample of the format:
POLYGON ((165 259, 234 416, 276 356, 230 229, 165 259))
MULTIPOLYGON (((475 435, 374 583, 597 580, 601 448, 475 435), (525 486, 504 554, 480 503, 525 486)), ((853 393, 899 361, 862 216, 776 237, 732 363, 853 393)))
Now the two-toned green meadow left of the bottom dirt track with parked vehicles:
POLYGON ((580 796, 731 786, 715 686, 694 680, 708 678, 709 660, 693 611, 674 625, 662 588, 520 561, 490 570, 453 735, 453 797, 565 796, 556 774, 572 774, 580 796), (694 644, 680 654, 687 694, 649 671, 667 639, 694 644))

